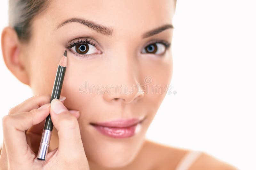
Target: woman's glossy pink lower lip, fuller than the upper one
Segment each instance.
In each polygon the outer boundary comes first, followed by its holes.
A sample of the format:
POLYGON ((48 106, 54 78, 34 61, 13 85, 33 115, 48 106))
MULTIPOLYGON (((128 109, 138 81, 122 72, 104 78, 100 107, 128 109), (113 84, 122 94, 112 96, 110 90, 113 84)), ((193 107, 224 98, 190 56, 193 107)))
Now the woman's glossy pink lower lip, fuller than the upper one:
POLYGON ((128 138, 135 134, 136 128, 139 128, 140 124, 135 124, 129 127, 107 127, 100 125, 93 125, 100 133, 112 138, 128 138))

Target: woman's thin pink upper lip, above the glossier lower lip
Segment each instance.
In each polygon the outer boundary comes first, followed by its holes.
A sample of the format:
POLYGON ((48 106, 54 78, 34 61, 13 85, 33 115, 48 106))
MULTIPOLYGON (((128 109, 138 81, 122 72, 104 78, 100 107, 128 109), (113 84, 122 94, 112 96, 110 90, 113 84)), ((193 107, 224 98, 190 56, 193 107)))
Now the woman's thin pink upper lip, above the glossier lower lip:
POLYGON ((143 119, 117 119, 109 122, 100 122, 100 123, 90 123, 92 125, 99 125, 99 126, 107 126, 107 127, 129 127, 135 124, 138 124, 143 119))

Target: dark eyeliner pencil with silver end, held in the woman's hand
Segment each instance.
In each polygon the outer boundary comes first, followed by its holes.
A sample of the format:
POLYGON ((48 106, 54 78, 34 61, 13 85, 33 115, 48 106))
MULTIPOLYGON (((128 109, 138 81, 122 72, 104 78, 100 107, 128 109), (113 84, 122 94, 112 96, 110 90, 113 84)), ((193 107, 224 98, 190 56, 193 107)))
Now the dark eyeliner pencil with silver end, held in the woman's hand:
MULTIPOLYGON (((58 66, 58 70, 56 73, 56 77, 55 77, 55 81, 52 89, 52 97, 51 97, 50 103, 55 98, 60 99, 60 92, 61 92, 66 68, 67 68, 67 50, 65 51, 62 58, 60 59, 60 63, 58 66)), ((44 130, 42 133, 42 138, 41 138, 39 150, 37 153, 37 159, 39 160, 45 160, 46 158, 46 154, 48 152, 48 148, 49 148, 50 140, 52 136, 52 128, 53 128, 52 119, 51 119, 51 115, 49 114, 46 117, 46 120, 44 123, 44 130)))

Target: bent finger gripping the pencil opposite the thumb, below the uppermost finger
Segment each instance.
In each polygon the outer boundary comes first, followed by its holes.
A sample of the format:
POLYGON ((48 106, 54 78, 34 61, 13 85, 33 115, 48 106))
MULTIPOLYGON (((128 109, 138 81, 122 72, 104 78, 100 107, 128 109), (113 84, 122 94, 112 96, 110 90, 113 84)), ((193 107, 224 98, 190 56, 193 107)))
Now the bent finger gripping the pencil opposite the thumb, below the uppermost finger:
MULTIPOLYGON (((25 113, 5 115, 2 119, 6 153, 12 163, 19 164, 35 157, 27 144, 25 131, 32 125, 42 122, 50 112, 50 103, 39 109, 25 113)), ((25 163, 25 162, 24 162, 25 163)))

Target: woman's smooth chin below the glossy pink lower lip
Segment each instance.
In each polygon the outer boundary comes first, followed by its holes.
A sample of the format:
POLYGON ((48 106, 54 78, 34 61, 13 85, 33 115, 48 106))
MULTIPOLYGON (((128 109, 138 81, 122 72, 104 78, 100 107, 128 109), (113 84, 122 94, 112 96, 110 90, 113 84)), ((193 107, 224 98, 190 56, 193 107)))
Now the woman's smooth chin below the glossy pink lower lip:
POLYGON ((109 138, 99 134, 94 134, 90 138, 86 135, 83 135, 83 137, 84 150, 89 164, 92 163, 105 168, 129 165, 135 159, 145 141, 144 133, 121 139, 109 138))

